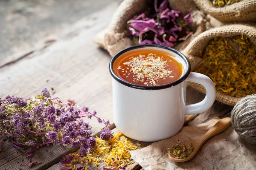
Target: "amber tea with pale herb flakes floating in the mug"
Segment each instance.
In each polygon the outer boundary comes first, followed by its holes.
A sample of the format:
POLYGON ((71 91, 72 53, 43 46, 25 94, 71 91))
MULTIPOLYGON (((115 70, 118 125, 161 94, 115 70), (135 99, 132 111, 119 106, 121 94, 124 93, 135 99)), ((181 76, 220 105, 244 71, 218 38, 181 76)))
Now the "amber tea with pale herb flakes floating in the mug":
POLYGON ((118 77, 136 85, 165 85, 179 79, 183 65, 167 51, 137 49, 122 54, 113 64, 118 77))

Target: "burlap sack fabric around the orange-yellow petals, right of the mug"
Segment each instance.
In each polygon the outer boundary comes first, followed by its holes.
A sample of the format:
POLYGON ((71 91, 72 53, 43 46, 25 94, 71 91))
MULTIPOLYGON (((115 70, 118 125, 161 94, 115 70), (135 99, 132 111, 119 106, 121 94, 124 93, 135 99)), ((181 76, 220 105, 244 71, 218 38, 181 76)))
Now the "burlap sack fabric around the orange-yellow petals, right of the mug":
MULTIPOLYGON (((253 43, 256 44, 256 24, 236 24, 236 25, 226 25, 217 28, 212 28, 196 37, 183 51, 191 63, 191 70, 194 71, 199 65, 202 64, 202 59, 200 57, 200 51, 204 51, 208 42, 214 37, 232 37, 236 35, 244 34, 246 37, 250 38, 253 43)), ((206 91, 202 85, 188 82, 193 88, 206 94, 206 91)), ((227 105, 234 106, 241 98, 232 97, 224 94, 221 91, 216 91, 216 100, 227 105)))

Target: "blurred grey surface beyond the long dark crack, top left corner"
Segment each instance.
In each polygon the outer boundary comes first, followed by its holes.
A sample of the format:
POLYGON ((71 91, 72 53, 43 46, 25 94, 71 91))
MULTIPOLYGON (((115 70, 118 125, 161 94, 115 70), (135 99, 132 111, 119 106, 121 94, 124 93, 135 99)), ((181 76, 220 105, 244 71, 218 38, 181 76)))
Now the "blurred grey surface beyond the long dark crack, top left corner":
POLYGON ((1 0, 0 66, 58 40, 67 26, 113 1, 1 0))

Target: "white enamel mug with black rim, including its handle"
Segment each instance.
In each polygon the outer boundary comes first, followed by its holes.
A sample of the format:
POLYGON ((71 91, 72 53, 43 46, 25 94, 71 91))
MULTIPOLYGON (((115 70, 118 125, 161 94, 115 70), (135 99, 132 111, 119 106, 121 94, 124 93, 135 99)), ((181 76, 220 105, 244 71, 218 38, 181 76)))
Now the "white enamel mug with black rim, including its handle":
POLYGON ((175 135, 183 126, 187 114, 207 111, 215 101, 212 80, 199 73, 190 72, 189 60, 179 51, 161 45, 136 45, 119 51, 110 61, 113 77, 113 119, 119 131, 131 139, 154 142, 175 135), (141 86, 117 77, 114 61, 127 51, 138 48, 157 48, 182 63, 183 75, 175 82, 159 86, 141 86), (186 105, 186 82, 196 82, 206 89, 204 100, 186 105))

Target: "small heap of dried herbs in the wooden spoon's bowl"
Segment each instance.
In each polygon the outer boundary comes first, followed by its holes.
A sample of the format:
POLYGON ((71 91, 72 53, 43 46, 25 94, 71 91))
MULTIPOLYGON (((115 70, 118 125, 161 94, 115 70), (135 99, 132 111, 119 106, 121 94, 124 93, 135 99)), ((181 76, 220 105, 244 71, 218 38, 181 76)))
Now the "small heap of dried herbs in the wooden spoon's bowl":
POLYGON ((183 144, 176 144, 169 149, 169 153, 176 159, 185 159, 189 156, 193 149, 194 147, 192 144, 189 144, 188 147, 185 147, 183 144))

